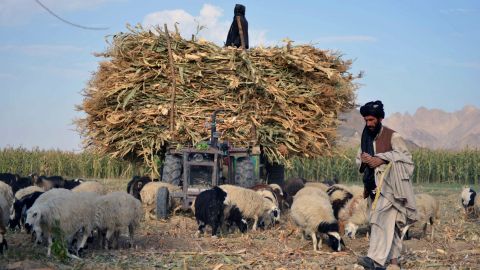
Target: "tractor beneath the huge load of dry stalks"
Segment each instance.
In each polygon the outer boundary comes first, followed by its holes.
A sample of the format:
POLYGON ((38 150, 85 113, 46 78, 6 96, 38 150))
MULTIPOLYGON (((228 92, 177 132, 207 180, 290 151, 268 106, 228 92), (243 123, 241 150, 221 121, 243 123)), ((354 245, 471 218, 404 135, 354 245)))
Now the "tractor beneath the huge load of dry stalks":
POLYGON ((157 218, 168 217, 169 200, 180 200, 181 209, 188 210, 200 192, 217 185, 232 184, 248 188, 261 183, 262 178, 283 185, 283 166, 266 162, 260 146, 234 148, 228 142, 218 141, 217 114, 221 112, 216 110, 212 114, 208 142, 196 147, 166 151, 161 181, 181 186, 182 191, 169 194, 165 187, 158 190, 157 218))

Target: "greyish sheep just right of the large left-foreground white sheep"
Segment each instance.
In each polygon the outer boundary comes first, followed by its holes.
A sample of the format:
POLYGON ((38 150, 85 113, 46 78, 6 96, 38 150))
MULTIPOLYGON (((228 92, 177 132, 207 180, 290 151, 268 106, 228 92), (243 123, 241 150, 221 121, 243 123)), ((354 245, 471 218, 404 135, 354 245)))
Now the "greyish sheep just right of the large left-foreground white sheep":
POLYGON ((102 236, 102 240, 105 240, 105 243, 102 241, 102 246, 108 249, 112 236, 115 236, 114 240, 118 243, 118 235, 125 228, 128 228, 131 246, 135 229, 139 226, 142 215, 142 203, 124 191, 99 197, 95 203, 94 225, 102 236))

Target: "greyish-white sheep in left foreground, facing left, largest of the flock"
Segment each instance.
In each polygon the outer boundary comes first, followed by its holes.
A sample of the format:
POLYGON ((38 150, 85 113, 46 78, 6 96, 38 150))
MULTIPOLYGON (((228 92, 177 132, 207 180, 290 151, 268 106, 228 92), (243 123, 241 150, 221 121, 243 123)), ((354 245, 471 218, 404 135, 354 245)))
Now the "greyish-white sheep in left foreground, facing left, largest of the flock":
POLYGON ((50 197, 43 203, 38 202, 40 198, 37 199, 27 211, 26 224, 34 229, 37 243, 42 241, 42 236, 47 239, 47 256, 51 254, 52 233, 57 226, 70 244, 77 233, 83 231, 83 237, 75 248, 78 255, 93 229, 97 198, 98 194, 94 192, 71 192, 50 197))

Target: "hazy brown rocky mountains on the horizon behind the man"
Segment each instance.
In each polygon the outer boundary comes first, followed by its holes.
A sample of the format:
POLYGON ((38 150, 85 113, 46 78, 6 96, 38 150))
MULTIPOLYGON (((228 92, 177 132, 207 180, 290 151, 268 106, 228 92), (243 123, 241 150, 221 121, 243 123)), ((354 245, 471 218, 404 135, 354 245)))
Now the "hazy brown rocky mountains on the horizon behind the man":
MULTIPOLYGON (((340 116, 337 143, 358 147, 365 122, 357 109, 340 116)), ((465 106, 455 112, 420 107, 414 114, 394 113, 383 124, 399 132, 409 148, 480 149, 480 109, 465 106)))

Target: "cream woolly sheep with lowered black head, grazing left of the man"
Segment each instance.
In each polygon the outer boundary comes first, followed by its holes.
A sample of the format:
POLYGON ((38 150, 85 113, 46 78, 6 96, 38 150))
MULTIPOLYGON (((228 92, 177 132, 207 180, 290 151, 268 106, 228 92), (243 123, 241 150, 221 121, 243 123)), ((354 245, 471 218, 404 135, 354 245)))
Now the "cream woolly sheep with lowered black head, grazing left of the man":
POLYGON ((313 250, 317 251, 322 245, 321 238, 317 242, 317 233, 329 237, 329 246, 334 251, 340 251, 343 240, 339 234, 338 222, 333 216, 330 202, 324 196, 304 194, 295 196, 290 215, 294 223, 301 229, 302 239, 310 235, 313 241, 313 250), (317 244, 318 243, 318 244, 317 244))

